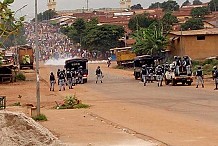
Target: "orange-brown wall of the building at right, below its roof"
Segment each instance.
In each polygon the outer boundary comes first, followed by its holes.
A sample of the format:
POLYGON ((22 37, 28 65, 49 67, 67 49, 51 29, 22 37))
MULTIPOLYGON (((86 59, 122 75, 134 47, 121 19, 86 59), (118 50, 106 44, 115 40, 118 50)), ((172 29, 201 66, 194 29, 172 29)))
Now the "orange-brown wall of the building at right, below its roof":
POLYGON ((172 55, 188 55, 192 59, 205 59, 218 56, 218 35, 205 35, 205 40, 197 40, 197 36, 170 35, 172 46, 169 47, 172 55))

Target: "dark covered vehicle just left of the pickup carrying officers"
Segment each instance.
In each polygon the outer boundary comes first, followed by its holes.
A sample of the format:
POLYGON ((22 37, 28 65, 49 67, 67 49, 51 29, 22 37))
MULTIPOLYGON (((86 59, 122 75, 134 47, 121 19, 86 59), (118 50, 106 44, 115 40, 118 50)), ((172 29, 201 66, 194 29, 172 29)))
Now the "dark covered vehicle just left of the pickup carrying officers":
POLYGON ((141 79, 141 70, 142 70, 142 65, 147 65, 148 68, 153 68, 154 69, 154 58, 151 55, 142 55, 142 56, 137 56, 134 59, 134 77, 135 79, 141 79))

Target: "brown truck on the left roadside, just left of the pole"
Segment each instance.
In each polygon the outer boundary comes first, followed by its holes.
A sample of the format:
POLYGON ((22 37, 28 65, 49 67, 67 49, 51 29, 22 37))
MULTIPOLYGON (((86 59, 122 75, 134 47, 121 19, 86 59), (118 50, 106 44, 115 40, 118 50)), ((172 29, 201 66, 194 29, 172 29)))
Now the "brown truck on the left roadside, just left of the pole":
POLYGON ((34 62, 33 54, 34 54, 33 48, 30 46, 24 45, 18 47, 20 69, 24 67, 33 69, 33 62, 34 62))

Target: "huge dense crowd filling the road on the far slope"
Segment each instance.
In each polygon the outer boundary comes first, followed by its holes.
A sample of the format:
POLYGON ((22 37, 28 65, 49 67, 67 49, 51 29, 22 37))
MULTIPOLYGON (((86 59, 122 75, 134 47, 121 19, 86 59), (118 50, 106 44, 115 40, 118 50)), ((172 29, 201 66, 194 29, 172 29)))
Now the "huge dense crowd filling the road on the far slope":
MULTIPOLYGON (((33 48, 35 48, 34 29, 34 23, 25 23, 27 43, 33 48)), ((73 44, 66 35, 60 32, 59 26, 52 25, 48 22, 40 22, 38 24, 38 32, 40 60, 43 61, 52 58, 71 58, 74 56, 97 60, 109 55, 109 52, 104 55, 96 50, 90 52, 87 49, 81 49, 78 44, 73 44)))

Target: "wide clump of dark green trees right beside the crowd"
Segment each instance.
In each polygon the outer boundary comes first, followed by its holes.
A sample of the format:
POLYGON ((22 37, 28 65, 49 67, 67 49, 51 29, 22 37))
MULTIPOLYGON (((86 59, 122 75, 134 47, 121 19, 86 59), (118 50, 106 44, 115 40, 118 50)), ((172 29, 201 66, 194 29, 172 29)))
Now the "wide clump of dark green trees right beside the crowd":
POLYGON ((80 43, 82 48, 88 50, 98 50, 101 52, 119 45, 119 39, 124 36, 124 28, 116 25, 97 25, 96 18, 85 22, 83 19, 77 19, 72 26, 64 27, 61 31, 73 40, 74 43, 80 43))

